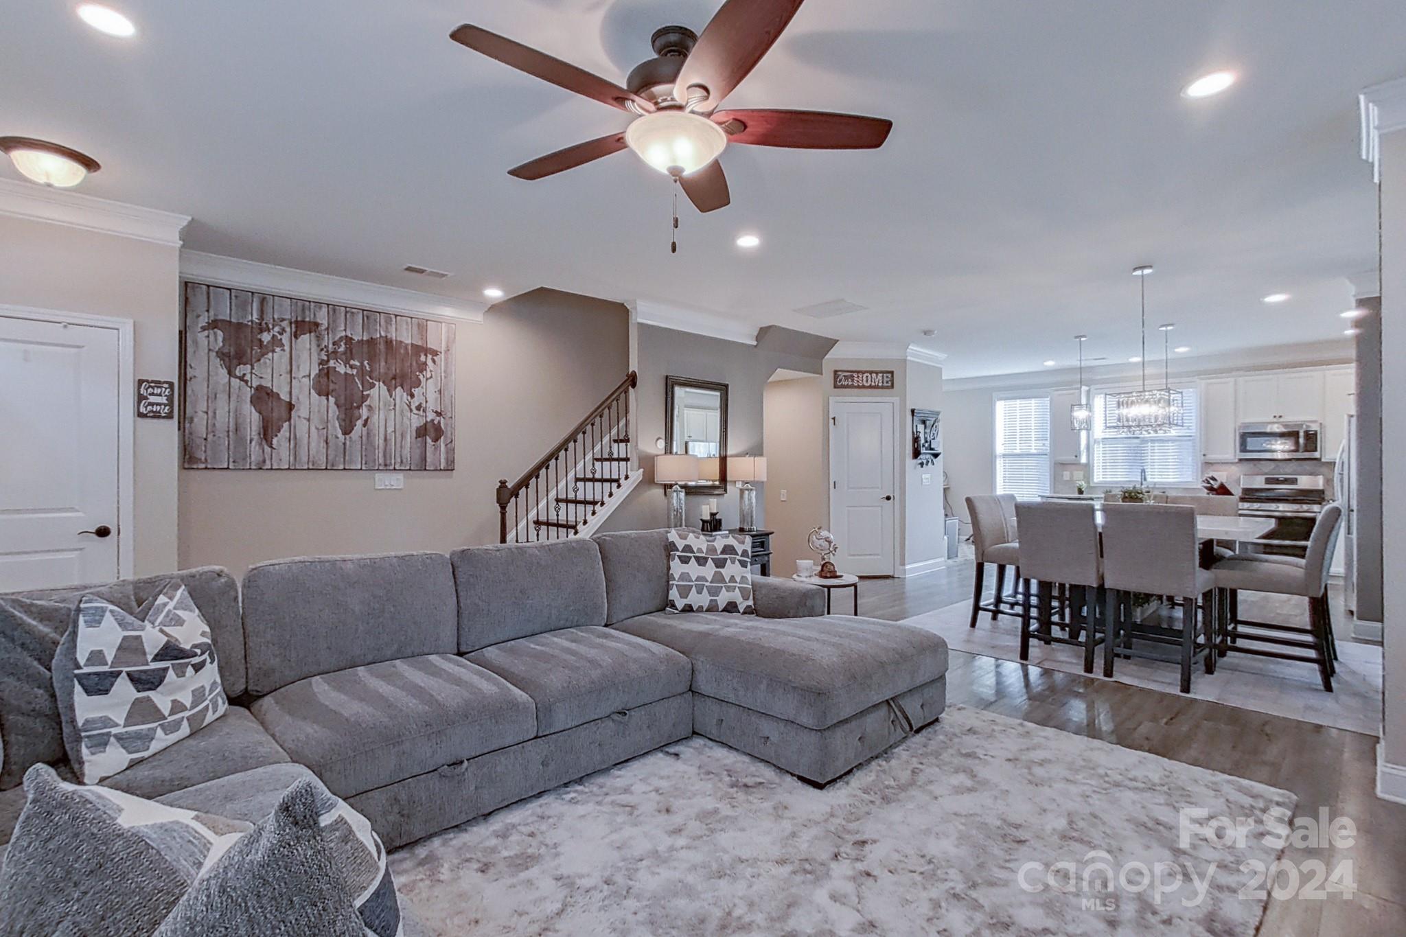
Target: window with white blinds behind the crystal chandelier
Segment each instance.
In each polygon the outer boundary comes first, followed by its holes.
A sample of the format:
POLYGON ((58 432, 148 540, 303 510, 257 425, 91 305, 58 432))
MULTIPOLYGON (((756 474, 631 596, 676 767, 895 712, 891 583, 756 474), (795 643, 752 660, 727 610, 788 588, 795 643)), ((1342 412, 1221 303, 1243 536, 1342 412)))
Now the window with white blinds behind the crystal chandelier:
POLYGON ((1201 455, 1197 426, 1201 420, 1195 386, 1181 391, 1182 423, 1175 433, 1119 435, 1104 430, 1104 407, 1109 393, 1122 388, 1094 391, 1094 485, 1137 485, 1147 472, 1149 485, 1197 486, 1201 483, 1201 455))

